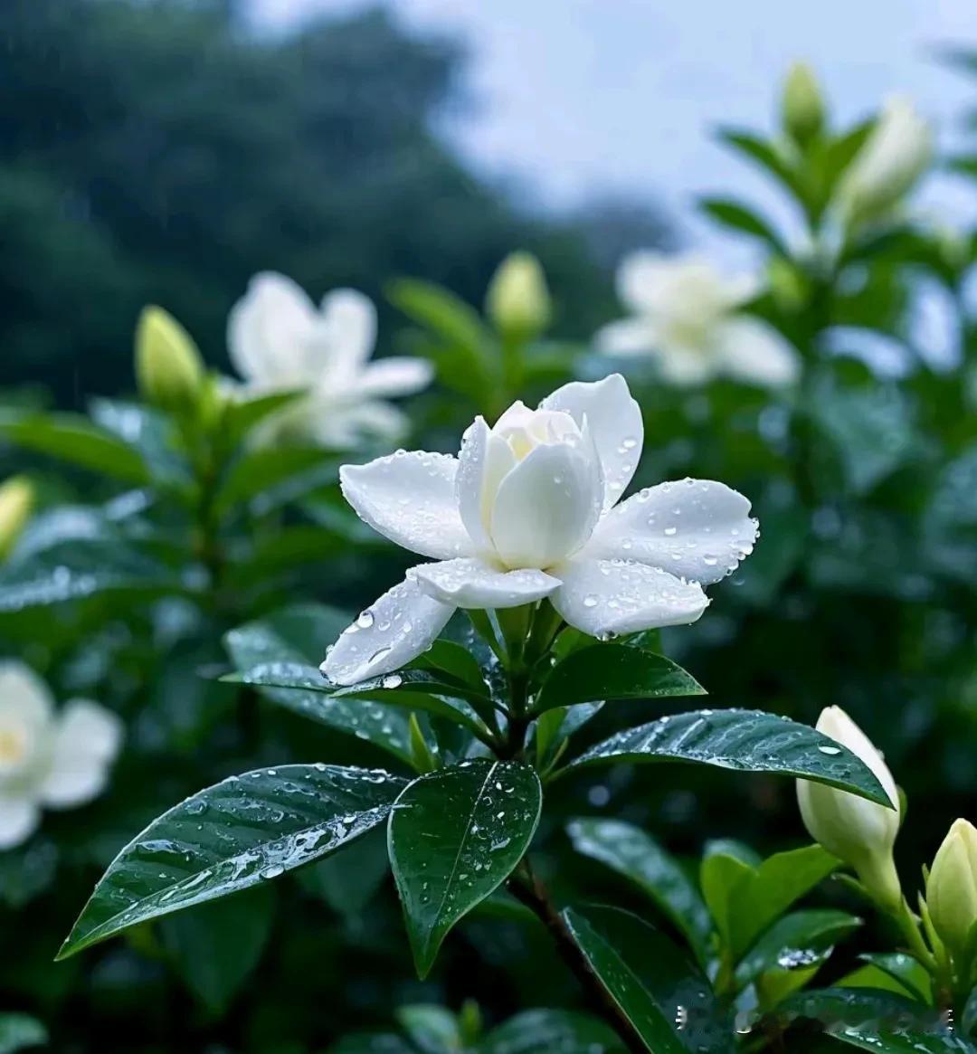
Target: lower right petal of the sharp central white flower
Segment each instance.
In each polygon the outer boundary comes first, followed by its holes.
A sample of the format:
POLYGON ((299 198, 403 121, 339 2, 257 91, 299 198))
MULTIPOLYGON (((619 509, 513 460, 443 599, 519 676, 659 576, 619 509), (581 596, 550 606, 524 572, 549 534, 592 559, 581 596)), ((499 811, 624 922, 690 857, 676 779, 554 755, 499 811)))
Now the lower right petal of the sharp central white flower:
POLYGON ((553 607, 591 637, 695 622, 709 600, 695 582, 629 560, 578 559, 555 568, 553 607))

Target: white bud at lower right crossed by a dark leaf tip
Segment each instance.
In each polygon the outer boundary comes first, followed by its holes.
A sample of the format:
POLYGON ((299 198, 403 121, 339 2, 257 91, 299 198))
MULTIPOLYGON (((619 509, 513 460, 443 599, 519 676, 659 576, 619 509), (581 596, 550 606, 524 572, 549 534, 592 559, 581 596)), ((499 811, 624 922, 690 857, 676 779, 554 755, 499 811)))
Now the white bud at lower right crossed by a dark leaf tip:
POLYGON ((899 833, 899 792, 892 773, 867 736, 840 706, 828 706, 818 718, 818 731, 846 746, 872 770, 893 808, 836 787, 797 781, 804 826, 815 841, 855 868, 862 885, 883 907, 895 911, 901 900, 893 845, 899 833))

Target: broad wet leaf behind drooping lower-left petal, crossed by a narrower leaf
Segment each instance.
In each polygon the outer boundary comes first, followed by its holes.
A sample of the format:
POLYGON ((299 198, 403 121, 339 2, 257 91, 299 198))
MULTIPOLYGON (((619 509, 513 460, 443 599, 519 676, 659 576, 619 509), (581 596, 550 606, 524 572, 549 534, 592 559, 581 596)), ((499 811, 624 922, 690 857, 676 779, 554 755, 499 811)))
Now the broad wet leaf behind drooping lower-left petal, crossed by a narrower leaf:
MULTIPOLYGON (((307 666, 321 659, 324 642, 335 640, 349 621, 348 614, 334 608, 300 605, 232 629, 224 645, 239 670, 268 662, 270 657, 284 664, 307 666)), ((321 685, 317 669, 315 677, 321 685)), ((258 691, 278 706, 373 743, 410 764, 408 716, 395 706, 357 698, 331 699, 320 690, 260 687, 258 691)))

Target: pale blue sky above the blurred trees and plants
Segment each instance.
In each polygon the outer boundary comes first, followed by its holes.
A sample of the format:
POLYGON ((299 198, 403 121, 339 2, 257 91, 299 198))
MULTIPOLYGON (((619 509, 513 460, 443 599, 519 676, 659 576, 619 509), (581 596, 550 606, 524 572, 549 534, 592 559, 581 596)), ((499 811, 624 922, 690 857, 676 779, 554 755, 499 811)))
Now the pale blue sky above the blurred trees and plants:
MULTIPOLYGON (((363 0, 251 0, 262 21, 343 13, 363 0)), ((813 62, 835 112, 852 119, 892 93, 912 96, 952 142, 973 82, 936 61, 977 46, 977 0, 393 0, 417 28, 471 45, 481 111, 450 134, 483 171, 524 179, 541 203, 598 188, 657 195, 691 240, 704 192, 756 194, 760 178, 725 154, 710 125, 769 126, 775 85, 813 62)), ((973 219, 972 191, 934 180, 922 206, 973 219)), ((712 240, 711 238, 709 240, 712 240)))

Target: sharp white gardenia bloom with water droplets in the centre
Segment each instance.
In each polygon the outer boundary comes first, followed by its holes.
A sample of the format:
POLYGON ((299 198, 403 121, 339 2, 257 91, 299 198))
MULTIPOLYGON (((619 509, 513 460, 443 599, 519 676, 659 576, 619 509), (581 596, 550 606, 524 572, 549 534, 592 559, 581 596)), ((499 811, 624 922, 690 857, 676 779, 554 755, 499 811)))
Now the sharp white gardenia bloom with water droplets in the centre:
POLYGON ((683 480, 618 504, 641 456, 641 410, 615 373, 564 385, 465 432, 457 457, 400 450, 339 470, 360 519, 429 557, 364 611, 327 656, 340 684, 397 669, 456 608, 549 598, 571 625, 607 638, 695 622, 702 585, 753 550, 749 502, 683 480))

